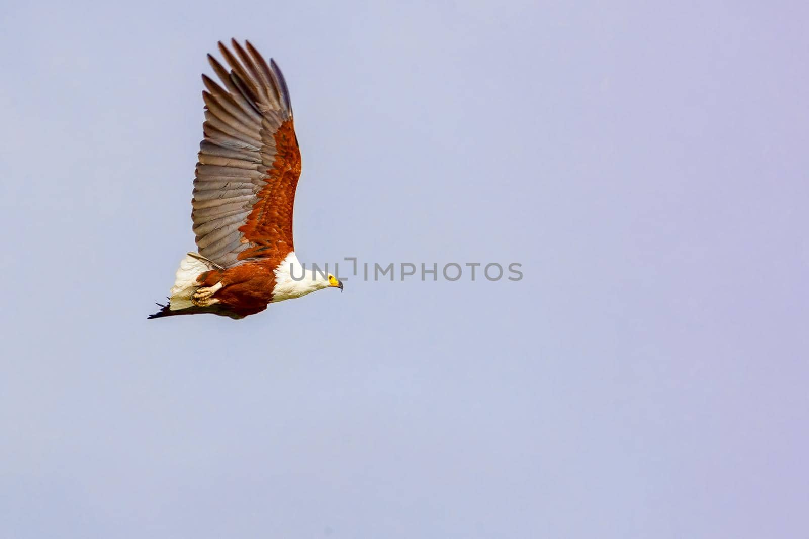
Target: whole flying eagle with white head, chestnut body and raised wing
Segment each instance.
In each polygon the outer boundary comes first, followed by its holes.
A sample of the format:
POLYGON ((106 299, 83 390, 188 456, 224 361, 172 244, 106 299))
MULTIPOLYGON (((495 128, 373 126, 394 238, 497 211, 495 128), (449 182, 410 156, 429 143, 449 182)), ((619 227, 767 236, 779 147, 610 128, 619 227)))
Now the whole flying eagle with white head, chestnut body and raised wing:
POLYGON ((343 284, 295 256, 292 208, 301 173, 290 92, 278 65, 249 41, 219 42, 230 70, 208 55, 221 85, 202 75, 204 138, 191 219, 197 252, 180 261, 171 297, 149 318, 244 318, 270 303, 343 284))

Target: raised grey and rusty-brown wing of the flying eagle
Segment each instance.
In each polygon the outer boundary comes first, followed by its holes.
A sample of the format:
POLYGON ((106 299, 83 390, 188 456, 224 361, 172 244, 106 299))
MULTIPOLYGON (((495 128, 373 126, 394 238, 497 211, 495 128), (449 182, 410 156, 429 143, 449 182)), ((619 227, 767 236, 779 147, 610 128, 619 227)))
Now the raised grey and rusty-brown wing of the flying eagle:
POLYGON ((224 87, 202 75, 205 138, 200 143, 191 212, 197 251, 222 267, 244 259, 280 261, 293 251, 292 205, 301 171, 289 91, 281 69, 249 41, 208 55, 224 87), (277 258, 280 257, 280 258, 277 258))

